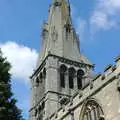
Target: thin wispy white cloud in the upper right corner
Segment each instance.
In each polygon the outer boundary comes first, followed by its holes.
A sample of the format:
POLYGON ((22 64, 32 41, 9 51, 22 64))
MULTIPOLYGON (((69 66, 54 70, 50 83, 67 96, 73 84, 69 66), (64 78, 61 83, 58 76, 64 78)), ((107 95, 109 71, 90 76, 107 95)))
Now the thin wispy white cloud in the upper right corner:
POLYGON ((91 26, 97 29, 116 27, 120 17, 120 0, 97 0, 90 19, 91 26))

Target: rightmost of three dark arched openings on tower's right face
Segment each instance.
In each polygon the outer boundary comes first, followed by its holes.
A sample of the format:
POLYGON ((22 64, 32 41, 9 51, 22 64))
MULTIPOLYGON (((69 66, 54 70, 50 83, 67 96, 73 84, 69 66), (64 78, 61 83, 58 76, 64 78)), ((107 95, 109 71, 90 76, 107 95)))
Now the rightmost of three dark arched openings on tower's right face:
POLYGON ((82 78, 84 76, 84 71, 83 70, 78 70, 77 72, 77 86, 78 86, 78 89, 81 89, 82 88, 82 78))

